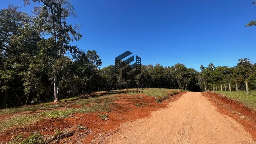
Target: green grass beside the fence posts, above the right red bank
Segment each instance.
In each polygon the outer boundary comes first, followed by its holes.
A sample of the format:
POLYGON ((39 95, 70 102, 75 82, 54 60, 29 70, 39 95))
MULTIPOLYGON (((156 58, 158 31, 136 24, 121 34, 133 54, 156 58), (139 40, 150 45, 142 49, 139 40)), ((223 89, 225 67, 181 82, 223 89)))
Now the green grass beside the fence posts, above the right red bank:
POLYGON ((249 92, 249 95, 246 95, 245 91, 229 92, 229 91, 215 91, 217 93, 223 94, 227 97, 242 102, 246 107, 251 108, 256 111, 256 92, 249 92))

